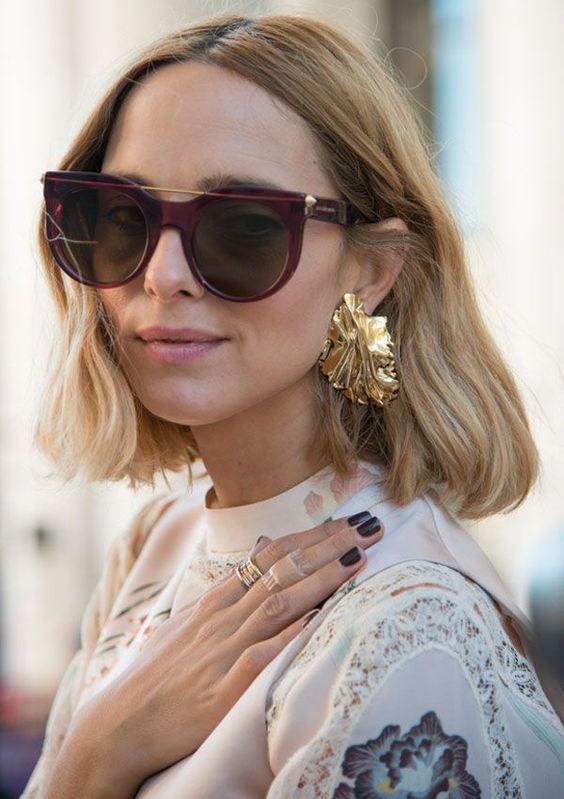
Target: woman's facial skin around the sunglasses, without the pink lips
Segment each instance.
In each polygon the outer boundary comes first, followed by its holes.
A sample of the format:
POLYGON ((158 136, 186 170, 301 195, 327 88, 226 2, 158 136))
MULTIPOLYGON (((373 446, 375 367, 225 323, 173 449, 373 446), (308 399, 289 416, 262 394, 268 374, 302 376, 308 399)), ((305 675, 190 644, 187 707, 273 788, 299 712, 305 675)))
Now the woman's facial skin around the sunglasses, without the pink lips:
MULTIPOLYGON (((306 124, 266 91, 220 67, 160 68, 129 94, 102 171, 142 176, 150 186, 194 189, 224 173, 284 189, 338 197, 306 124)), ((158 193, 163 199, 186 195, 158 193)), ((157 416, 198 426, 226 420, 282 393, 306 396, 333 310, 354 291, 358 264, 342 257, 339 225, 308 221, 295 274, 266 299, 215 297, 193 278, 180 234, 165 228, 145 271, 99 292, 118 331, 133 390, 157 416), (193 328, 220 341, 189 360, 150 356, 139 331, 193 328)))

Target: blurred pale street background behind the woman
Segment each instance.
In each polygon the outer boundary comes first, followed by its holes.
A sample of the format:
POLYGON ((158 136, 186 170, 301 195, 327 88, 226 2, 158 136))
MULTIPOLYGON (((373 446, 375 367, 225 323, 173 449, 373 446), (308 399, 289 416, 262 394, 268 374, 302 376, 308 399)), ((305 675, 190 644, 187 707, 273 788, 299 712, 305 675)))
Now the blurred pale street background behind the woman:
MULTIPOLYGON (((224 10, 331 22, 385 56, 410 89, 541 451, 527 502, 467 525, 525 611, 529 564, 564 527, 561 0, 2 0, 0 797, 23 789, 108 546, 150 497, 62 485, 32 448, 55 330, 35 245, 39 178, 139 48, 224 10)), ((185 476, 171 483, 183 488, 185 476)))

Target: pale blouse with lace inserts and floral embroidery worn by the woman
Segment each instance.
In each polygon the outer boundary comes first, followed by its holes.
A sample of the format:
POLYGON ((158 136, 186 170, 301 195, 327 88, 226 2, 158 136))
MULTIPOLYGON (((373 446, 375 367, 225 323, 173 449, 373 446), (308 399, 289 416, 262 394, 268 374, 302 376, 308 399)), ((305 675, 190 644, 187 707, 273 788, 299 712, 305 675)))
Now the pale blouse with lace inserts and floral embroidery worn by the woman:
POLYGON ((532 665, 528 620, 451 515, 426 496, 400 507, 383 488, 361 461, 346 480, 326 467, 252 505, 147 505, 108 555, 22 799, 45 795, 75 710, 259 535, 361 510, 385 529, 362 570, 138 799, 562 799, 562 692, 532 665))

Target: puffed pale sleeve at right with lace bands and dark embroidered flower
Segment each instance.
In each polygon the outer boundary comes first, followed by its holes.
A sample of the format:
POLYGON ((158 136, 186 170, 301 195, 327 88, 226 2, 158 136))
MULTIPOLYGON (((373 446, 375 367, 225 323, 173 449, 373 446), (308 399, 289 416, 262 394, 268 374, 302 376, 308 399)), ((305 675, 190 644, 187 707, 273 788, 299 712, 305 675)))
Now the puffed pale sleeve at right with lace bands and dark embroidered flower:
POLYGON ((491 599, 447 567, 350 591, 267 711, 268 799, 561 796, 560 722, 491 599), (525 791, 540 763, 540 792, 525 791))

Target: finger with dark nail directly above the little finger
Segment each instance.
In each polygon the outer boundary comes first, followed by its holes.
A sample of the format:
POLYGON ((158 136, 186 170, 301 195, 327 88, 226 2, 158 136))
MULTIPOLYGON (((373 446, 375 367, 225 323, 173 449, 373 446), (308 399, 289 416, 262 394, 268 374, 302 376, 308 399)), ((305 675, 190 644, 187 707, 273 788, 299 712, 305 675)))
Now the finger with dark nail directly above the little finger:
MULTIPOLYGON (((355 547, 339 560, 327 563, 309 577, 270 594, 242 624, 234 628, 232 639, 235 649, 245 650, 276 635, 304 613, 324 602, 365 563, 364 550, 355 547)), ((230 617, 235 615, 235 608, 237 606, 226 614, 227 624, 230 623, 230 617)))

